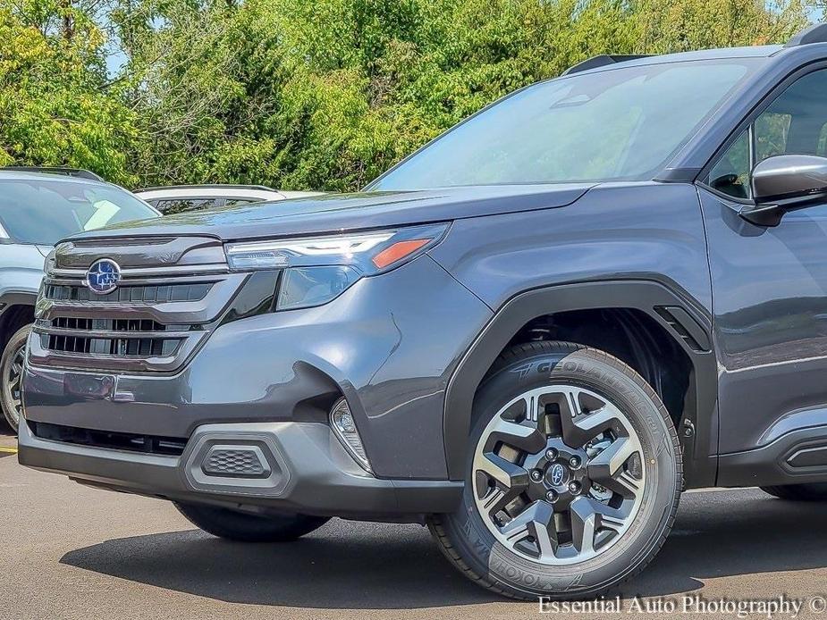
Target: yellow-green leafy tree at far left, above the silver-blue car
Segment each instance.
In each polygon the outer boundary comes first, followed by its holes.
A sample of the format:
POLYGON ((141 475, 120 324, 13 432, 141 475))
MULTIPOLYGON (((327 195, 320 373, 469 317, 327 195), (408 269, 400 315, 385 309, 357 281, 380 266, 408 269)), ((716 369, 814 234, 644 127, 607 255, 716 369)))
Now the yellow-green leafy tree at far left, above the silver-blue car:
POLYGON ((131 184, 135 118, 105 91, 104 37, 68 1, 0 4, 0 165, 90 168, 131 184))

